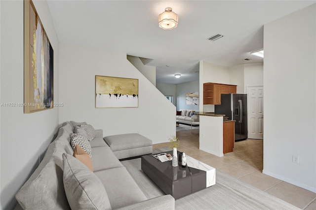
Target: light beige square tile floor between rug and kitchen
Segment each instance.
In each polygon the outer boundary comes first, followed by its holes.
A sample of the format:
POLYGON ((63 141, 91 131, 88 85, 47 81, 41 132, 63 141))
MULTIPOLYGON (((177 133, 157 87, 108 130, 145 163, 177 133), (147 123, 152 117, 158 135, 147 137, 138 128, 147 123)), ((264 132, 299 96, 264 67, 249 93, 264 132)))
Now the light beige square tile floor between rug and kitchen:
MULTIPOLYGON (((233 152, 217 157, 198 149, 198 135, 199 130, 177 132, 178 150, 300 209, 316 210, 316 193, 262 174, 263 140, 237 141, 233 152)), ((166 146, 170 143, 154 144, 153 148, 166 146)))

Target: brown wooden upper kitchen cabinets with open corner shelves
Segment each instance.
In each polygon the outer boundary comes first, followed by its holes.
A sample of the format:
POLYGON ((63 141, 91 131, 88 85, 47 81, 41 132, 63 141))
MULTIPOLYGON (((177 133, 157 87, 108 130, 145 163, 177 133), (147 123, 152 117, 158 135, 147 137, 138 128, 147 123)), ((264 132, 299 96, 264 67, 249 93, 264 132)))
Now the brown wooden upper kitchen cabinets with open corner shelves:
POLYGON ((221 94, 236 93, 237 85, 207 82, 203 84, 203 105, 220 105, 221 94))

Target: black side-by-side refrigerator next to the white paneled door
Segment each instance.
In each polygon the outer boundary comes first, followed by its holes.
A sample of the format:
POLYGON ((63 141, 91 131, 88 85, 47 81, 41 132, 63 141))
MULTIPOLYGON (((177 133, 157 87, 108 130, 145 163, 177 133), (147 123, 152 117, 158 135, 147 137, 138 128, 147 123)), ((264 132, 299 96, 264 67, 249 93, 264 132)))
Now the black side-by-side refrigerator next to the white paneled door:
POLYGON ((236 120, 235 141, 247 139, 247 94, 222 94, 221 105, 215 105, 214 111, 236 120))

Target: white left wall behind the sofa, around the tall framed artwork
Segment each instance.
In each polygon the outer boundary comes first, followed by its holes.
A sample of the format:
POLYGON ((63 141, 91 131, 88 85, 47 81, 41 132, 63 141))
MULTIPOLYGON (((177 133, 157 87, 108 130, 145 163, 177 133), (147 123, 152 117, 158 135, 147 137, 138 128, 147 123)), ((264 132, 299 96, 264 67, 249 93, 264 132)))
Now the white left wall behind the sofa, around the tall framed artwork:
MULTIPOLYGON (((58 102, 59 41, 46 1, 34 1, 54 50, 54 102, 58 102)), ((24 103, 23 1, 0 1, 0 101, 24 103)), ((13 209, 17 191, 34 172, 58 128, 58 107, 24 114, 23 107, 0 109, 0 209, 13 209)))

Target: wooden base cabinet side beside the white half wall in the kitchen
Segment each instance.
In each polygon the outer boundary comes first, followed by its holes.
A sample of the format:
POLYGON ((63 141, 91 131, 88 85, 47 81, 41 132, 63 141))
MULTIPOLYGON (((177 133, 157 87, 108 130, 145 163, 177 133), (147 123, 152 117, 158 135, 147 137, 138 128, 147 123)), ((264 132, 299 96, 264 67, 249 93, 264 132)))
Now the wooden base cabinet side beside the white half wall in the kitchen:
POLYGON ((235 145, 235 121, 223 122, 223 153, 232 152, 235 145))

